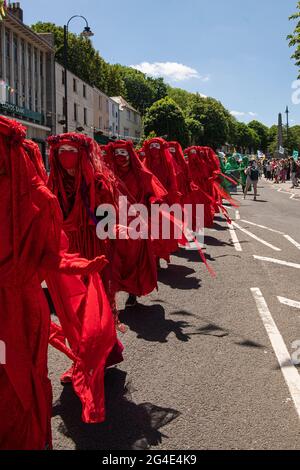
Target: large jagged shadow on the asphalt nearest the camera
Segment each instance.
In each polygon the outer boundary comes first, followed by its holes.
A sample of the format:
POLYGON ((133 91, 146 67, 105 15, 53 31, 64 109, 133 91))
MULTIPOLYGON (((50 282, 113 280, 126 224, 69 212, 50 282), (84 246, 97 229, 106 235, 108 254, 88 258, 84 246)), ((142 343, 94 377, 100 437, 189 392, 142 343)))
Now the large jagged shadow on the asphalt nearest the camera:
POLYGON ((132 401, 131 391, 125 372, 108 370, 105 377, 107 421, 88 425, 81 421, 81 403, 72 387, 65 387, 53 407, 53 416, 60 416, 63 421, 59 432, 75 443, 76 450, 145 450, 157 446, 167 437, 159 430, 177 419, 180 413, 152 403, 137 405, 132 401))

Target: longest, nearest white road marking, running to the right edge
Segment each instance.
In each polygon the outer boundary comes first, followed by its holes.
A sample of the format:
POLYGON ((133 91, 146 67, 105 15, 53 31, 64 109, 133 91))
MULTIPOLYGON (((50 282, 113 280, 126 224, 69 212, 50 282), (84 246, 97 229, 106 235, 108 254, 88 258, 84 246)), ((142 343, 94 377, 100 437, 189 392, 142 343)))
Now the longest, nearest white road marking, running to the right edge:
POLYGON ((294 366, 285 342, 271 315, 268 305, 258 288, 251 289, 258 312, 276 354, 281 372, 289 388, 298 417, 300 418, 300 375, 294 366))

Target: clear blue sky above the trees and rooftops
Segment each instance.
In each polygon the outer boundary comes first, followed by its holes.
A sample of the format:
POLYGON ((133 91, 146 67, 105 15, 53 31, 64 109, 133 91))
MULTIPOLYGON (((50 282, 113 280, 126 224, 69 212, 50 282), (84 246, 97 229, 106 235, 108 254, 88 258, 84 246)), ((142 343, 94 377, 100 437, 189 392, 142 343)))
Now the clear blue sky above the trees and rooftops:
MULTIPOLYGON (((87 17, 109 62, 163 73, 173 86, 219 99, 239 120, 267 125, 292 103, 297 69, 286 36, 296 0, 21 0, 24 21, 87 17)), ((75 20, 71 29, 82 30, 75 20)))

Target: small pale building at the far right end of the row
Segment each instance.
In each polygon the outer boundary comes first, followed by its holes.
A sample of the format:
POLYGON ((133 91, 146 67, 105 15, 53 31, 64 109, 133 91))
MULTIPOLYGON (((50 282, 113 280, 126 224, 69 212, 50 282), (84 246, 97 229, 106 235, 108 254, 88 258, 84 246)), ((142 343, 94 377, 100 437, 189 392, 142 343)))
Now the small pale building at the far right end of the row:
POLYGON ((115 96, 112 100, 119 106, 119 138, 138 142, 142 136, 141 114, 122 96, 115 96))

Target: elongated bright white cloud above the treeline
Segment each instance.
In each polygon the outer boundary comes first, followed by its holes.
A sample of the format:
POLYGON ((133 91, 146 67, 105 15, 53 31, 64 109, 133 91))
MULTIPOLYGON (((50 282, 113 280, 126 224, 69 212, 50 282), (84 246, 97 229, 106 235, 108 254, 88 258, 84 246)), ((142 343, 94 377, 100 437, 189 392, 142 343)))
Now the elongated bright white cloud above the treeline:
POLYGON ((192 67, 177 62, 153 62, 152 64, 150 62, 142 62, 130 67, 151 77, 163 77, 172 82, 183 82, 192 78, 198 78, 203 82, 210 80, 209 75, 202 76, 192 67))

